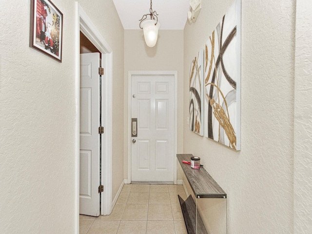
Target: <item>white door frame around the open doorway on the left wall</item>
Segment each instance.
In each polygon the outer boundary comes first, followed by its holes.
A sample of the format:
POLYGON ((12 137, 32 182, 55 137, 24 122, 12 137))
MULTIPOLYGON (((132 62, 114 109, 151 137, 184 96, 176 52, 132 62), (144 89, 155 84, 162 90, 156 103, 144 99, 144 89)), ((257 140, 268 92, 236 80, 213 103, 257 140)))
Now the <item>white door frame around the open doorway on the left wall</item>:
POLYGON ((101 145, 104 146, 101 153, 102 173, 101 181, 104 185, 104 193, 101 193, 101 215, 109 215, 112 211, 112 74, 113 51, 99 33, 97 27, 90 20, 78 2, 75 2, 75 231, 79 233, 79 88, 80 88, 80 31, 98 48, 102 55, 101 66, 104 67, 102 79, 102 126, 105 134, 102 136, 101 145))

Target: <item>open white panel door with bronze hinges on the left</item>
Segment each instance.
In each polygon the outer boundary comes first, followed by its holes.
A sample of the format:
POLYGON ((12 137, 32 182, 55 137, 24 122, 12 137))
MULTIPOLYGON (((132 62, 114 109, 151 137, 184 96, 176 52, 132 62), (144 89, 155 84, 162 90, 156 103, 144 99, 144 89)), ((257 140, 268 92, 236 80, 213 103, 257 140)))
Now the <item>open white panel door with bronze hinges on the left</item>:
POLYGON ((79 214, 99 215, 99 53, 80 55, 79 214))

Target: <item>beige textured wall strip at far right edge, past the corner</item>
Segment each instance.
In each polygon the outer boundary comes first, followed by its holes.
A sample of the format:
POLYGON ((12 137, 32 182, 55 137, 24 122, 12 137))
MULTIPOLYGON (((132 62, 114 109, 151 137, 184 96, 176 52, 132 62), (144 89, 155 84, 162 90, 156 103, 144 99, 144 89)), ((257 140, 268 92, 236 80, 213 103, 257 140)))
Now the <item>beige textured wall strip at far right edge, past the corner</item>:
POLYGON ((294 233, 312 230, 312 2, 296 2, 294 233))

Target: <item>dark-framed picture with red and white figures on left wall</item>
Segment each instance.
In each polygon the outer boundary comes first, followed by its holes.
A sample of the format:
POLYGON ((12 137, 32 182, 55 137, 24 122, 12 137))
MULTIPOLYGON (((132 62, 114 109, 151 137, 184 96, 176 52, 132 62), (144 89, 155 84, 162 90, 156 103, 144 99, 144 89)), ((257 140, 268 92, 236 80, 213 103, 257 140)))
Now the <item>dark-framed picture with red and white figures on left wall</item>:
POLYGON ((63 14, 50 0, 31 0, 29 46, 62 62, 63 14))

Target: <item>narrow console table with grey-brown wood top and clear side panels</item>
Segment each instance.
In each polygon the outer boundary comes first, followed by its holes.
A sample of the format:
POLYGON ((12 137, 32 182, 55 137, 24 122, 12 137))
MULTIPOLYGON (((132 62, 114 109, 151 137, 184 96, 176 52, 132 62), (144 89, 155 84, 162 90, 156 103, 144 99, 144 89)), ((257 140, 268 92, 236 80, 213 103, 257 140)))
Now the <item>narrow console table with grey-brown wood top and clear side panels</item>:
MULTIPOLYGON (((193 169, 182 161, 190 161, 192 154, 176 155, 185 177, 187 178, 196 198, 226 198, 223 189, 215 182, 214 178, 203 168, 193 169)), ((202 219, 196 209, 195 202, 190 195, 185 201, 178 195, 184 222, 188 234, 207 234, 202 219)))

